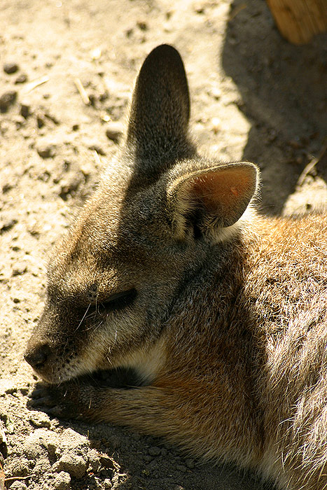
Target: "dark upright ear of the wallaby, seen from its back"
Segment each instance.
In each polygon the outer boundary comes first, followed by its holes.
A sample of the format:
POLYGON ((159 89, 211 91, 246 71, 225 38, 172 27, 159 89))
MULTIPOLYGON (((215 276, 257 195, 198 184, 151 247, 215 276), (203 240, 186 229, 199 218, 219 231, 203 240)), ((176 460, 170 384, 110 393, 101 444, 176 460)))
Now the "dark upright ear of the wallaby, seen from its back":
POLYGON ((141 67, 132 97, 127 146, 143 157, 161 158, 185 145, 190 115, 188 82, 179 52, 155 48, 141 67))

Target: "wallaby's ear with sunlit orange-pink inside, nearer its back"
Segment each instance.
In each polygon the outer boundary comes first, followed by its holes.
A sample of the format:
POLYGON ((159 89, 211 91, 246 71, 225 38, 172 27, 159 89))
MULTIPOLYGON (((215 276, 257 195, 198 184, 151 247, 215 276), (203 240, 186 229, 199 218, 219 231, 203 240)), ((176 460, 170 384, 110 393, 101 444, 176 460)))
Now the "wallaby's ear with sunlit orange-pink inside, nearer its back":
POLYGON ((174 179, 167 197, 176 237, 183 239, 186 229, 193 226, 197 237, 222 239, 223 229, 244 214, 257 183, 258 168, 247 162, 217 165, 174 179))

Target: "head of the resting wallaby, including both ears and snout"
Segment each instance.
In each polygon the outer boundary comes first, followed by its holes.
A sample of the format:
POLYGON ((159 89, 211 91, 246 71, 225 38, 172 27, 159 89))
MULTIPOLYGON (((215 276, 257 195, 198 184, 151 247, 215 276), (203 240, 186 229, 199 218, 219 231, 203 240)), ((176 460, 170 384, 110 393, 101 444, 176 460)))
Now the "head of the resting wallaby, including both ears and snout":
POLYGON ((25 353, 46 381, 111 367, 151 381, 183 285, 241 232, 258 170, 198 155, 189 113, 181 57, 160 45, 139 72, 120 152, 50 259, 25 353))

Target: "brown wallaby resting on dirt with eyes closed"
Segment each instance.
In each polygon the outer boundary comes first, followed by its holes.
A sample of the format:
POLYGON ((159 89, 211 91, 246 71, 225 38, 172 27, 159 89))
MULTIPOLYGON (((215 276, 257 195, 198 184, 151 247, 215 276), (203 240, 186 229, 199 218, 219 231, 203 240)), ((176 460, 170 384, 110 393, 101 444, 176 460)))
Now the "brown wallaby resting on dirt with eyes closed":
POLYGON ((189 113, 181 57, 160 45, 120 152, 50 260, 25 353, 51 384, 36 398, 279 489, 325 489, 327 216, 258 216, 256 165, 200 156, 189 113), (86 376, 99 370, 125 389, 86 376))

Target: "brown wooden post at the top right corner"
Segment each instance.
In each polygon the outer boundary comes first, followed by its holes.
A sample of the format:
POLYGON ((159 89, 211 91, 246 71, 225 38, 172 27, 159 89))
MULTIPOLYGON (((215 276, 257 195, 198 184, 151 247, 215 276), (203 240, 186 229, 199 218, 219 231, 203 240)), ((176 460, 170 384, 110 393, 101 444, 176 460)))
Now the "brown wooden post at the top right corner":
POLYGON ((309 43, 327 31, 327 0, 267 0, 282 36, 293 44, 309 43))

